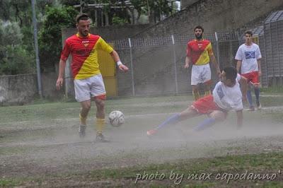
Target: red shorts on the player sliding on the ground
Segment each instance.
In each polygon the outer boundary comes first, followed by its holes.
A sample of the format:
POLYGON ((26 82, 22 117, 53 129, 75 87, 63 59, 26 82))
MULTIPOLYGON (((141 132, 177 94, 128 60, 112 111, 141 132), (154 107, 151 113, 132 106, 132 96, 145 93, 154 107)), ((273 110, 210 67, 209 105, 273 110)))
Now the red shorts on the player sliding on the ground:
POLYGON ((200 98, 199 100, 193 102, 191 107, 201 114, 209 114, 214 110, 223 111, 215 104, 212 95, 207 95, 204 98, 200 98))

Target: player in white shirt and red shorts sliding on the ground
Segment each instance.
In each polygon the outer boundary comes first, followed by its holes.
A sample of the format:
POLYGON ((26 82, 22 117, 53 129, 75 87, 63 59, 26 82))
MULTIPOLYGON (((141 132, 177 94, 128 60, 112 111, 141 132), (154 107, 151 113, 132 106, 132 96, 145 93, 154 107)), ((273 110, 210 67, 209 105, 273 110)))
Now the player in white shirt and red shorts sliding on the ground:
POLYGON ((234 67, 225 67, 221 73, 221 81, 216 83, 212 95, 193 102, 186 110, 174 114, 156 128, 147 131, 146 134, 153 136, 158 132, 158 129, 168 124, 175 124, 200 114, 207 114, 209 118, 194 128, 195 131, 200 131, 215 122, 224 121, 229 110, 236 110, 237 124, 238 127, 241 127, 243 124, 242 100, 246 100, 247 86, 247 79, 237 74, 237 70, 234 67), (242 90, 239 83, 241 83, 242 90))

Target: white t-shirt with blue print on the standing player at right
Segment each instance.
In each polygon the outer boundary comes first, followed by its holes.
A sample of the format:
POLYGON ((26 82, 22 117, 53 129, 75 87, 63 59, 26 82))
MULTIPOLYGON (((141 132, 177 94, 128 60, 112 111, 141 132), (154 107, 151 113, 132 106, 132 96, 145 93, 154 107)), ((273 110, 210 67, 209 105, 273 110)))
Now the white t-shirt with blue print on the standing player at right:
POLYGON ((261 59, 260 47, 255 43, 250 46, 243 44, 238 48, 235 59, 242 61, 241 74, 258 71, 258 59, 261 59))

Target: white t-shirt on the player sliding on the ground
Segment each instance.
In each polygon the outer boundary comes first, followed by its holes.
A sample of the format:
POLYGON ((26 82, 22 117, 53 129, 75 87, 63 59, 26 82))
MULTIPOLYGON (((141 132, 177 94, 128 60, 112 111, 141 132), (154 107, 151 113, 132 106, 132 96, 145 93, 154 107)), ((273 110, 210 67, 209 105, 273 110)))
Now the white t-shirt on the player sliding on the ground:
POLYGON ((233 87, 225 86, 219 81, 212 92, 214 102, 223 110, 243 110, 242 93, 240 84, 240 74, 237 75, 236 84, 233 87))

